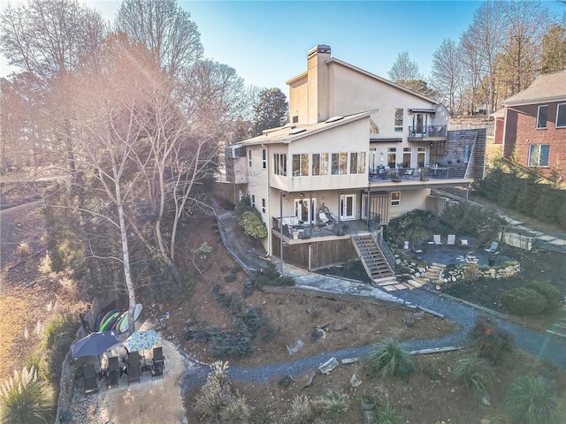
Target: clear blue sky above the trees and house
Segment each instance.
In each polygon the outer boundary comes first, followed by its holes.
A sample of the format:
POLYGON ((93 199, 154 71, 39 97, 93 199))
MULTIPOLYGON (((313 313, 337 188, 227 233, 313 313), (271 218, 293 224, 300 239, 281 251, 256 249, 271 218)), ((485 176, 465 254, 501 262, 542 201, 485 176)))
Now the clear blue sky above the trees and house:
MULTIPOLYGON (((113 19, 117 0, 82 0, 113 19)), ((14 4, 14 1, 11 1, 14 4)), ((16 2, 17 3, 17 2, 16 2)), ((332 57, 388 78, 403 50, 425 79, 442 40, 457 41, 479 1, 180 1, 195 21, 204 57, 232 66, 246 85, 279 87, 306 71, 307 51, 327 44, 332 57)), ((562 16, 566 5, 544 2, 562 16)), ((4 11, 6 0, 0 0, 4 11)), ((8 68, 0 61, 1 75, 8 68)))

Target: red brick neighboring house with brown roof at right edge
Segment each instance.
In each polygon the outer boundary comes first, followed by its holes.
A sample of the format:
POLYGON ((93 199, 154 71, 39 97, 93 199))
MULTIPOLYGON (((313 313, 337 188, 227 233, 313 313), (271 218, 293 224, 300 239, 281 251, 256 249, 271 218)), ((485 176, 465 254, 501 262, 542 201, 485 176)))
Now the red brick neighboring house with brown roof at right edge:
POLYGON ((493 113, 494 140, 501 153, 514 152, 525 168, 566 166, 566 71, 537 77, 532 85, 502 102, 493 113))

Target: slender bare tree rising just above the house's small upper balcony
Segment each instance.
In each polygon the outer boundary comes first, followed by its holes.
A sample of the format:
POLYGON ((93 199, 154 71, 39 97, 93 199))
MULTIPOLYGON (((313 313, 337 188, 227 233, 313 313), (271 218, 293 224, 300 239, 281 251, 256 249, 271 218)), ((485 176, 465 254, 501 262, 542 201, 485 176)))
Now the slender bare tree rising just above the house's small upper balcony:
POLYGON ((432 55, 432 87, 448 99, 450 115, 455 115, 455 98, 462 82, 460 51, 454 40, 442 41, 432 55))

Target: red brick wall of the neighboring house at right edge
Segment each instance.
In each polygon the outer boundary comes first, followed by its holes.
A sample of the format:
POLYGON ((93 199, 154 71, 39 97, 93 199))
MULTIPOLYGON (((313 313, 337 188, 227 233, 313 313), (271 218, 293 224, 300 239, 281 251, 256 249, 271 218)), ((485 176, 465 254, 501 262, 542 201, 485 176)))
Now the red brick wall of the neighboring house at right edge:
MULTIPOLYGON (((517 147, 519 163, 528 165, 529 146, 548 144, 548 166, 560 164, 566 171, 566 128, 555 128, 558 102, 548 104, 547 128, 537 129, 538 104, 509 107, 505 122, 505 147, 503 155, 510 157, 517 147)), ((543 170, 547 174, 547 170, 543 170)))

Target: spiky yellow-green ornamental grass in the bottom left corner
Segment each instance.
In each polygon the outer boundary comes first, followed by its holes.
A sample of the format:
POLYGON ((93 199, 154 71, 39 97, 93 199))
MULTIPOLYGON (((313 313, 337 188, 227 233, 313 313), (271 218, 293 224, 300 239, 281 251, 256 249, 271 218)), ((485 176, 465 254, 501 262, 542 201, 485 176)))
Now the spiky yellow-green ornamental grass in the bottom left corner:
POLYGON ((53 389, 38 380, 34 367, 14 371, 0 386, 0 422, 53 422, 55 405, 53 389))

